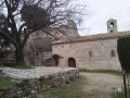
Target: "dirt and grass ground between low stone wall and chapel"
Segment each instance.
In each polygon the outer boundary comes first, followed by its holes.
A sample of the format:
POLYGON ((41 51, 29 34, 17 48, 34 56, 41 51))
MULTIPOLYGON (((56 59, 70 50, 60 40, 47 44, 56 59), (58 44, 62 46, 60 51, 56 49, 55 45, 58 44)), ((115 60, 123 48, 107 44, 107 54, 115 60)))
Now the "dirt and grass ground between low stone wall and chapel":
POLYGON ((80 73, 80 77, 38 98, 115 98, 122 76, 106 73, 80 73))

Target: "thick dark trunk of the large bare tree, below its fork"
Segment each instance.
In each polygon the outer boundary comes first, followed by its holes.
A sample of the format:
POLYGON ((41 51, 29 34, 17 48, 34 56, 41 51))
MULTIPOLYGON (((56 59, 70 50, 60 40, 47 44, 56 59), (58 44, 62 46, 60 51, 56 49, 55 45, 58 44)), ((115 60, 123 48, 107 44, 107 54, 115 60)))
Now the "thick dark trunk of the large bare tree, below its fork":
POLYGON ((17 65, 24 65, 24 51, 23 51, 24 47, 16 47, 15 48, 15 57, 16 57, 16 64, 17 65))

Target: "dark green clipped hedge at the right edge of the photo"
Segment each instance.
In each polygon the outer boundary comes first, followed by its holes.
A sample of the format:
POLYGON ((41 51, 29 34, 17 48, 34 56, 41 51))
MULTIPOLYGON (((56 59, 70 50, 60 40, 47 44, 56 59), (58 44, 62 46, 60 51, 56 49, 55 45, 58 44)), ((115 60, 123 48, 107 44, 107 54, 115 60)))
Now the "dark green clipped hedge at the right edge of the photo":
POLYGON ((122 70, 130 70, 130 37, 118 39, 117 51, 122 70))

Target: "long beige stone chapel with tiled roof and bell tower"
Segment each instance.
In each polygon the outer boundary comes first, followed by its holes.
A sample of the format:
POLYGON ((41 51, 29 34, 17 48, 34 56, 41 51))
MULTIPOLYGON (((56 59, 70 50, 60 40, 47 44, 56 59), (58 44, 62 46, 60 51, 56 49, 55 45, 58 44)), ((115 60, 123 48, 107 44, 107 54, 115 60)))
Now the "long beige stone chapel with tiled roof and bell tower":
POLYGON ((130 36, 118 32, 116 20, 107 21, 107 34, 76 36, 52 42, 52 52, 61 58, 58 66, 86 70, 121 70, 117 54, 117 39, 130 36))

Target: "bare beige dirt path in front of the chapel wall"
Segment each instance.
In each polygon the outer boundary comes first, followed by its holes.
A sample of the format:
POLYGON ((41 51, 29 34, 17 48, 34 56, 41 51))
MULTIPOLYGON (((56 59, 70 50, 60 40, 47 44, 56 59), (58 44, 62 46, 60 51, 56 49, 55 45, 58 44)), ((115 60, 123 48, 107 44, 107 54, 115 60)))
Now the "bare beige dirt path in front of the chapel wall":
POLYGON ((122 77, 103 73, 80 73, 83 76, 82 90, 87 98, 110 98, 117 87, 122 86, 122 77), (90 97, 89 97, 90 96, 90 97))

